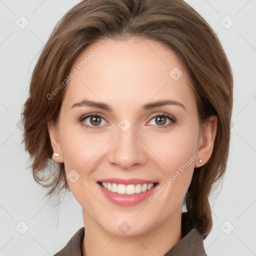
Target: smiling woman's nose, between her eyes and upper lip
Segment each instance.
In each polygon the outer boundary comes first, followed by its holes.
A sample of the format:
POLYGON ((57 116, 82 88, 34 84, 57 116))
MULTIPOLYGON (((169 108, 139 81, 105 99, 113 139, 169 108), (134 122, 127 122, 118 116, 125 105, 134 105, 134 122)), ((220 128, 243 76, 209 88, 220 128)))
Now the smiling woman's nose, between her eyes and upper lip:
POLYGON ((131 125, 126 131, 117 127, 116 133, 109 148, 109 163, 126 170, 133 166, 137 168, 144 165, 147 161, 146 146, 142 142, 142 137, 136 134, 133 126, 131 125))

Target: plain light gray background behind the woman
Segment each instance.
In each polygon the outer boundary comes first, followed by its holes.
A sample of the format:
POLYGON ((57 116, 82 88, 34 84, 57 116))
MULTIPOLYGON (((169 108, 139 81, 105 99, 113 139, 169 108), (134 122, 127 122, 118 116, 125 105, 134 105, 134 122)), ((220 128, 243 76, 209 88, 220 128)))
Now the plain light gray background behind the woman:
MULTIPOLYGON (((230 157, 223 187, 211 198, 213 229, 204 246, 208 256, 256 255, 256 1, 186 2, 217 33, 234 74, 230 157)), ((0 255, 53 255, 83 226, 81 206, 71 193, 55 209, 43 198, 45 191, 26 169, 17 124, 38 53, 76 3, 0 0, 0 255), (24 29, 15 23, 21 15, 29 21, 24 29)))

